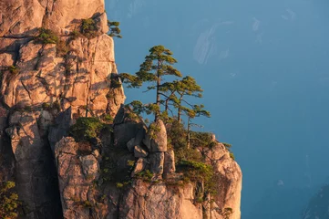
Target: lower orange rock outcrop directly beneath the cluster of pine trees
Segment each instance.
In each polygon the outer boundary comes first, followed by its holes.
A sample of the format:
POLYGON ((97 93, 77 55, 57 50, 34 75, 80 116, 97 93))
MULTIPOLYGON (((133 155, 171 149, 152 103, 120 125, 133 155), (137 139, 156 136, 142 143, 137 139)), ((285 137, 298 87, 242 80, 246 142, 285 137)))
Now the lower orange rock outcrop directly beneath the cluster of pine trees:
MULTIPOLYGON (((148 134, 144 138, 149 139, 148 134)), ((223 144, 200 149, 216 175, 218 193, 210 195, 203 194, 202 184, 183 182, 182 173, 176 172, 172 150, 150 152, 140 144, 145 156, 134 157, 136 152, 129 147, 102 143, 109 145, 107 152, 99 153, 92 144, 86 146, 70 137, 57 142, 59 190, 66 218, 225 219, 225 214, 231 219, 241 218, 242 172, 223 144)))

